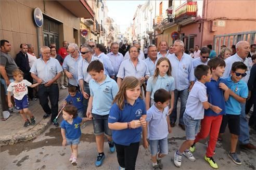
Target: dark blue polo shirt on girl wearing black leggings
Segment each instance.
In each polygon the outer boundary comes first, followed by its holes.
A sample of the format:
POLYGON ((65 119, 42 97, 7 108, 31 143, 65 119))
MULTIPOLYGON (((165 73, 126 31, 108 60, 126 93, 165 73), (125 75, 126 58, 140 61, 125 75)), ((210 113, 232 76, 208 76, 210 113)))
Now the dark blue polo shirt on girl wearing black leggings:
MULTIPOLYGON (((146 114, 146 106, 143 99, 138 98, 135 100, 133 106, 125 100, 124 108, 122 110, 118 108, 116 103, 112 105, 108 116, 108 123, 139 120, 143 114, 146 114)), ((141 133, 142 127, 112 130, 112 138, 113 141, 119 145, 129 146, 131 143, 140 141, 141 133)))

